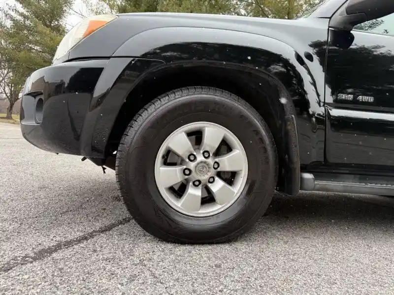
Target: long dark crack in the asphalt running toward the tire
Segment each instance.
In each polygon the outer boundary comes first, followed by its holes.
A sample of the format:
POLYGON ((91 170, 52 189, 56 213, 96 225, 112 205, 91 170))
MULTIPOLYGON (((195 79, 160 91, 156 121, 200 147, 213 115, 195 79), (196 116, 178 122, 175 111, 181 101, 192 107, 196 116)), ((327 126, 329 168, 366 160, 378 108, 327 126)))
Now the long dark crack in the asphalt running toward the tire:
POLYGON ((75 245, 78 245, 80 243, 88 241, 91 238, 94 238, 95 236, 98 236, 102 233, 109 232, 118 226, 127 224, 131 221, 131 219, 132 219, 131 217, 126 217, 121 220, 118 220, 117 222, 100 227, 99 229, 89 232, 87 234, 84 234, 82 236, 78 236, 74 239, 62 241, 62 242, 56 243, 52 246, 49 246, 49 247, 43 248, 41 250, 38 250, 36 252, 33 252, 32 255, 25 255, 22 257, 12 258, 9 261, 7 261, 5 264, 0 265, 0 271, 1 272, 8 272, 17 266, 24 266, 24 265, 36 262, 38 260, 43 260, 60 250, 64 250, 64 249, 73 247, 75 245))

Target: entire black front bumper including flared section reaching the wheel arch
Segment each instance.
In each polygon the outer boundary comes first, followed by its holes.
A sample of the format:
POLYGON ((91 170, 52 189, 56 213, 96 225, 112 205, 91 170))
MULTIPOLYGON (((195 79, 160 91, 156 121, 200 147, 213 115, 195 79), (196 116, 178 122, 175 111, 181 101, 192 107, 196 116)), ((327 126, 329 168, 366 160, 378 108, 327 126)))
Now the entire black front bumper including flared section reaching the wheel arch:
POLYGON ((69 61, 34 72, 22 96, 24 138, 50 152, 107 158, 125 100, 132 99, 133 88, 164 64, 119 57, 69 61))

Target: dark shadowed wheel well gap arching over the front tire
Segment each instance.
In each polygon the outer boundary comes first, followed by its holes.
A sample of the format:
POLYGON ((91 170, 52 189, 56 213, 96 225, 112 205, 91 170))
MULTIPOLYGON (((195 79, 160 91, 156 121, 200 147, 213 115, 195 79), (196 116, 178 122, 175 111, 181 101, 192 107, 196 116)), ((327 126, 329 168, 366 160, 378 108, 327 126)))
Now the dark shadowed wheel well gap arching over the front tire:
POLYGON ((174 89, 189 86, 215 87, 229 91, 254 107, 269 126, 275 140, 279 159, 278 187, 285 179, 286 163, 285 111, 279 100, 280 90, 268 75, 258 75, 228 67, 198 65, 172 66, 145 77, 127 97, 115 120, 106 154, 117 150, 121 137, 131 119, 152 99, 174 89))

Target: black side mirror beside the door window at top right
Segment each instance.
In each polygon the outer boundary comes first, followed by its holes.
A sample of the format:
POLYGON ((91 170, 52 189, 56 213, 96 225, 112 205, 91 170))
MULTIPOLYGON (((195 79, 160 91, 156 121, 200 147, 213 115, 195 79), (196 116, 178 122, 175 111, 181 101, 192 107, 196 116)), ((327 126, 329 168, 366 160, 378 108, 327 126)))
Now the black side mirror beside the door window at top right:
POLYGON ((329 27, 352 30, 355 26, 394 13, 393 0, 349 0, 332 16, 329 27))

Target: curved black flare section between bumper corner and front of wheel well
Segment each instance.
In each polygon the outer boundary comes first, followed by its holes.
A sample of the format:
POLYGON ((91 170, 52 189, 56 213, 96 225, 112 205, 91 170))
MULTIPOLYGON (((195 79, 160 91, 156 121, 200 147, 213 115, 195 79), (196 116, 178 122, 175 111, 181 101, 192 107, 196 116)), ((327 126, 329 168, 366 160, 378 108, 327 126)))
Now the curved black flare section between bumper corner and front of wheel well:
POLYGON ((81 154, 96 164, 103 164, 106 146, 120 108, 130 91, 144 74, 160 65, 162 60, 112 58, 101 73, 90 100, 81 132, 81 154))

